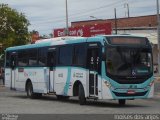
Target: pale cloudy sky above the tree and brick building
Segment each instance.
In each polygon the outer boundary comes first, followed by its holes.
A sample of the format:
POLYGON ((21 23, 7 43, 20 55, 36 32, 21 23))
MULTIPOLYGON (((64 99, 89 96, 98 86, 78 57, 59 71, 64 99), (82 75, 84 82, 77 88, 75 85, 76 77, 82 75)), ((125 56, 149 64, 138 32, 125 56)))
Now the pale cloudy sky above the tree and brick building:
MULTIPOLYGON (((156 14, 156 0, 67 0, 69 26, 71 22, 156 14), (90 16, 94 16, 90 17, 90 16)), ((0 0, 18 12, 24 13, 30 22, 29 30, 48 35, 56 28, 66 26, 66 0, 0 0)))

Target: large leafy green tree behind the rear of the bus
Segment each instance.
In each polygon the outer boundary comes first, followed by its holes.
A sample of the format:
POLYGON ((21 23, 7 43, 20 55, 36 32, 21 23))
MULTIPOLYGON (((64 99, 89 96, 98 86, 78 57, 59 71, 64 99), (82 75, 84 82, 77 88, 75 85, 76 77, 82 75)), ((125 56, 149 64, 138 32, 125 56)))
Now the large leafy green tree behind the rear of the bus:
POLYGON ((29 21, 23 13, 10 8, 7 4, 0 4, 0 44, 1 50, 23 45, 29 42, 29 21))

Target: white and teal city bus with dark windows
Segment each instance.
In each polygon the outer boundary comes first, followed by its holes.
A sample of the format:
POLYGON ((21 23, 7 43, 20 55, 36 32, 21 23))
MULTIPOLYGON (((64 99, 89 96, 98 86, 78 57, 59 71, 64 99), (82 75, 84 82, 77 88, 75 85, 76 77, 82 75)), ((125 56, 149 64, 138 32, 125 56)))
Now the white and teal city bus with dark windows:
POLYGON ((146 37, 58 37, 5 51, 5 85, 30 98, 126 100, 154 94, 152 46, 146 37))

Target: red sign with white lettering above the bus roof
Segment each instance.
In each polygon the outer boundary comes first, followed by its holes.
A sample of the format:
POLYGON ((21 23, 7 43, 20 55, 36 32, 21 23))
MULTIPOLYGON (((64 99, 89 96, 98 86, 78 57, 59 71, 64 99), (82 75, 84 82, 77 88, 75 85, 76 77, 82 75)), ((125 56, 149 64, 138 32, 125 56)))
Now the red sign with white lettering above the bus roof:
MULTIPOLYGON (((80 27, 69 28, 69 36, 91 37, 96 35, 111 34, 111 23, 96 25, 85 25, 80 27)), ((54 37, 65 36, 65 29, 54 29, 54 37)))

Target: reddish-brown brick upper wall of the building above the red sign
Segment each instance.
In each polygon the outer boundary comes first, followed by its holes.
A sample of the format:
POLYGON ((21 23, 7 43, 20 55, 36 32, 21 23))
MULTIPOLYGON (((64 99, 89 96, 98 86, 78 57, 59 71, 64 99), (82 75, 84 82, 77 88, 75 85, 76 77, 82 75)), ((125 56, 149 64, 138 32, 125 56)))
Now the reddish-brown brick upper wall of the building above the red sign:
MULTIPOLYGON (((77 21, 77 22, 71 22, 71 26, 76 27, 76 26, 83 26, 83 25, 106 23, 106 22, 110 22, 112 24, 112 28, 113 29, 115 28, 115 19, 77 21)), ((117 18, 118 28, 156 27, 156 26, 157 26, 157 15, 117 18)))

